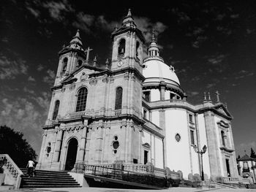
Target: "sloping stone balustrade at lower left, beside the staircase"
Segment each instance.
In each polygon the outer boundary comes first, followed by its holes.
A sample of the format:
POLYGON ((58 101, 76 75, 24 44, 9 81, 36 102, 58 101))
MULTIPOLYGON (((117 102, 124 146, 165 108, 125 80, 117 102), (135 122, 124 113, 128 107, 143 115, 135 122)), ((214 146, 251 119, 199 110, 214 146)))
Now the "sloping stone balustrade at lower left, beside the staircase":
POLYGON ((6 177, 8 177, 11 181, 10 184, 14 185, 15 189, 20 188, 20 182, 21 182, 21 175, 23 175, 23 172, 20 170, 20 168, 15 164, 14 161, 12 161, 12 158, 8 154, 0 154, 0 160, 6 160, 7 162, 4 164, 3 169, 4 173, 7 174, 6 177))

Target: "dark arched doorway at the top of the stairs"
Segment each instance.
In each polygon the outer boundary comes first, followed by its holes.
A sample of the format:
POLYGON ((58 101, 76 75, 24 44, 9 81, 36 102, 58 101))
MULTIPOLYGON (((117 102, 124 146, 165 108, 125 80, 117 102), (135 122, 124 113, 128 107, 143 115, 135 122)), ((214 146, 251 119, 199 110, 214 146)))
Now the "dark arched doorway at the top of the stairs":
POLYGON ((77 152, 78 152, 78 140, 75 138, 72 138, 70 139, 69 145, 67 148, 67 159, 66 159, 65 170, 69 171, 74 168, 77 152))

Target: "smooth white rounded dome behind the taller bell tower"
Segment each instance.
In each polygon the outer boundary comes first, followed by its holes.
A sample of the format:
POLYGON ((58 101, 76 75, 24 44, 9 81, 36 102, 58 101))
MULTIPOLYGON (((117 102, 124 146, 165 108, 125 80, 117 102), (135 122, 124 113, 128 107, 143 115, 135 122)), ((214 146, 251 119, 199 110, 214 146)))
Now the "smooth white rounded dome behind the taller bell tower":
POLYGON ((167 82, 179 87, 180 82, 173 66, 167 66, 161 58, 147 58, 144 61, 145 68, 143 69, 143 76, 146 77, 144 82, 167 82))

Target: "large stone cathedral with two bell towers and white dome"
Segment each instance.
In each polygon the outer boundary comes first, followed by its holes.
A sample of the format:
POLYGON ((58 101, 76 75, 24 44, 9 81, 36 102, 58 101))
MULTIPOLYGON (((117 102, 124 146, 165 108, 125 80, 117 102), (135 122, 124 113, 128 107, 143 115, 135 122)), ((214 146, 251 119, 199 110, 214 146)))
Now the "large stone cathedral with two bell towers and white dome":
POLYGON ((69 171, 121 161, 124 169, 169 168, 185 179, 238 177, 233 117, 219 93, 216 102, 205 93, 201 104, 189 103, 154 33, 143 56, 146 39, 130 10, 111 39, 104 65, 89 59, 79 31, 59 51, 37 167, 69 171))

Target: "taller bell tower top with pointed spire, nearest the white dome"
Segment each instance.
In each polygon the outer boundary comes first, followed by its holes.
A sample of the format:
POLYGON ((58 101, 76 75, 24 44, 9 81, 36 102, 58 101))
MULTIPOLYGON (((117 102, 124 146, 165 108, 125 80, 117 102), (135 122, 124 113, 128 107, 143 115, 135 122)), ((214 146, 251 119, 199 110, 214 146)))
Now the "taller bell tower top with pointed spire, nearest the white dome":
POLYGON ((132 18, 131 9, 124 17, 121 27, 116 27, 111 37, 113 39, 111 70, 135 68, 142 73, 145 38, 132 18))

